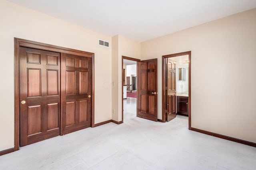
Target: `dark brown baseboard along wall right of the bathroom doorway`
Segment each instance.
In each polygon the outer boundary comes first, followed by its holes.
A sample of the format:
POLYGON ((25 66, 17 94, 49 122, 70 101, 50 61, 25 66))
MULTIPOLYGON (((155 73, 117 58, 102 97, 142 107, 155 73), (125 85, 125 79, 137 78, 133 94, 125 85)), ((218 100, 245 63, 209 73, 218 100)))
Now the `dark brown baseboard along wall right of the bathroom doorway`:
POLYGON ((242 143, 244 145, 249 145, 249 146, 252 146, 252 147, 256 147, 256 143, 253 143, 253 142, 250 142, 250 141, 244 141, 242 139, 237 139, 237 138, 234 138, 234 137, 220 135, 218 133, 213 133, 213 132, 204 131, 204 130, 201 130, 201 129, 196 129, 194 127, 191 127, 191 130, 192 131, 196 131, 196 132, 200 132, 200 133, 204 133, 206 135, 211 135, 211 136, 214 136, 214 137, 219 137, 219 138, 222 138, 222 139, 226 139, 226 140, 229 140, 229 141, 233 141, 233 142, 237 142, 237 143, 242 143))

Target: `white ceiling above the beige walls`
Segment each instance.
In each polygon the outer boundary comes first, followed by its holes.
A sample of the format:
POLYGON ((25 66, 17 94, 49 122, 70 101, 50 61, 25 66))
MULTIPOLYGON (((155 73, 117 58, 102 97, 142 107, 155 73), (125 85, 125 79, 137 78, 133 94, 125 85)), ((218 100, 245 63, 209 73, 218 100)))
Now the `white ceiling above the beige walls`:
POLYGON ((9 0, 99 33, 136 41, 256 8, 256 0, 9 0))

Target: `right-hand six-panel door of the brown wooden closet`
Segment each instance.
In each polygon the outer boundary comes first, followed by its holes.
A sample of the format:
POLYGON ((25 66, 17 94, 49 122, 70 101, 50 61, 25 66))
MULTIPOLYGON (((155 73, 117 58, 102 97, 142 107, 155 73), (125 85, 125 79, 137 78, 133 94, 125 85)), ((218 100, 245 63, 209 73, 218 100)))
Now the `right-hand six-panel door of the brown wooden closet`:
POLYGON ((61 54, 61 131, 91 126, 92 58, 61 54))

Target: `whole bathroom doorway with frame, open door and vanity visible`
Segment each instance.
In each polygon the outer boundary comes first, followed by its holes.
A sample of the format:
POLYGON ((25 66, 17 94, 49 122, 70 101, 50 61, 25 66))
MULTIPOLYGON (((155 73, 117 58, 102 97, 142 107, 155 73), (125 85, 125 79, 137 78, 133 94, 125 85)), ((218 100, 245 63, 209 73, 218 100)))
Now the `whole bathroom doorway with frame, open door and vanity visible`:
POLYGON ((188 116, 191 129, 191 51, 162 56, 162 121, 188 116))

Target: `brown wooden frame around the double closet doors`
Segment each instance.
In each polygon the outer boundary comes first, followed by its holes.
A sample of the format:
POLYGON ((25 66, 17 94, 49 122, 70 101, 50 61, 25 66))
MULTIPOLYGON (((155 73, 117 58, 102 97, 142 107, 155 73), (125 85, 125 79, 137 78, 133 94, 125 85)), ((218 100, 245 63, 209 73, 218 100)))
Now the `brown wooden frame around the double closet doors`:
POLYGON ((92 124, 94 124, 94 53, 14 37, 14 151, 20 149, 20 47, 92 58, 92 124))

